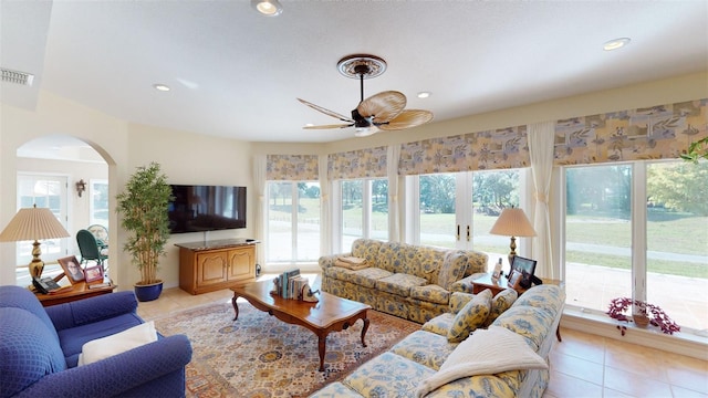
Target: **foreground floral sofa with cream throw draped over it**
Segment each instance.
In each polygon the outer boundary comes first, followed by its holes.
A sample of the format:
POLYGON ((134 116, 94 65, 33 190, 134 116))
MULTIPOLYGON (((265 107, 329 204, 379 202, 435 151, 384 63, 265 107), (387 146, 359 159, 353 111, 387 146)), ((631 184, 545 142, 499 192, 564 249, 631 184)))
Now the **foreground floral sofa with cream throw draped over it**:
POLYGON ((450 342, 449 332, 465 311, 459 306, 478 295, 454 295, 460 300, 452 300, 450 313, 311 397, 541 397, 549 383, 548 358, 563 312, 563 290, 530 289, 487 329, 471 331, 461 343, 450 342))

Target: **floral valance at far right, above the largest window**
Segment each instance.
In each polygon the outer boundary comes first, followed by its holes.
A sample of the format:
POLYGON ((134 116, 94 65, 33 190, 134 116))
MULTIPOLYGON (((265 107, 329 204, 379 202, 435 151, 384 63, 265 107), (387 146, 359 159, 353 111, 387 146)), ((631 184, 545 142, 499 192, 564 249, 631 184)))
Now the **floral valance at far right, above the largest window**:
POLYGON ((708 98, 600 115, 555 124, 554 164, 676 159, 708 135, 708 98))

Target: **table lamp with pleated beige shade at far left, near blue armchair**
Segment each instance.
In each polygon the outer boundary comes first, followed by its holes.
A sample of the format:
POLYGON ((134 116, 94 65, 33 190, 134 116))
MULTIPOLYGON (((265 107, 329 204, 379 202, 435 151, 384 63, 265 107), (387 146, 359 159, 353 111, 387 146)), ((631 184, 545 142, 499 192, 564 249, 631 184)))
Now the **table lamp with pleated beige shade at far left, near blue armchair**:
POLYGON ((38 208, 37 205, 31 208, 20 209, 10 220, 10 223, 0 232, 0 242, 20 242, 31 241, 32 243, 32 261, 30 262, 30 276, 40 277, 44 270, 44 262, 40 259, 42 251, 40 250, 39 239, 58 239, 67 238, 69 232, 56 220, 56 217, 49 208, 38 208))

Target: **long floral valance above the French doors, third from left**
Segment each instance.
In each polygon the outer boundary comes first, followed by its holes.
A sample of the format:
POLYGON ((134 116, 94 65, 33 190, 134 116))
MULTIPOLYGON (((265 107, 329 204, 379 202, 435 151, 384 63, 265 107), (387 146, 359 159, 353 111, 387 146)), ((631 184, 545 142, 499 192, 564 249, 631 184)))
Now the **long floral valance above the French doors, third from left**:
POLYGON ((527 126, 517 126, 403 144, 398 174, 521 168, 529 159, 527 126))

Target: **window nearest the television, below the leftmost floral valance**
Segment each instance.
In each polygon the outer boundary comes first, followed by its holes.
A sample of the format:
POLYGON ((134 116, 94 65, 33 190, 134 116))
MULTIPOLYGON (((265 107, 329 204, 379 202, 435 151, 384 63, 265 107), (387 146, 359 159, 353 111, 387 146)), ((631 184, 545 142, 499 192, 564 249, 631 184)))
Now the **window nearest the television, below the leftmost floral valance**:
POLYGON ((268 261, 317 261, 320 184, 271 181, 268 203, 268 261))

